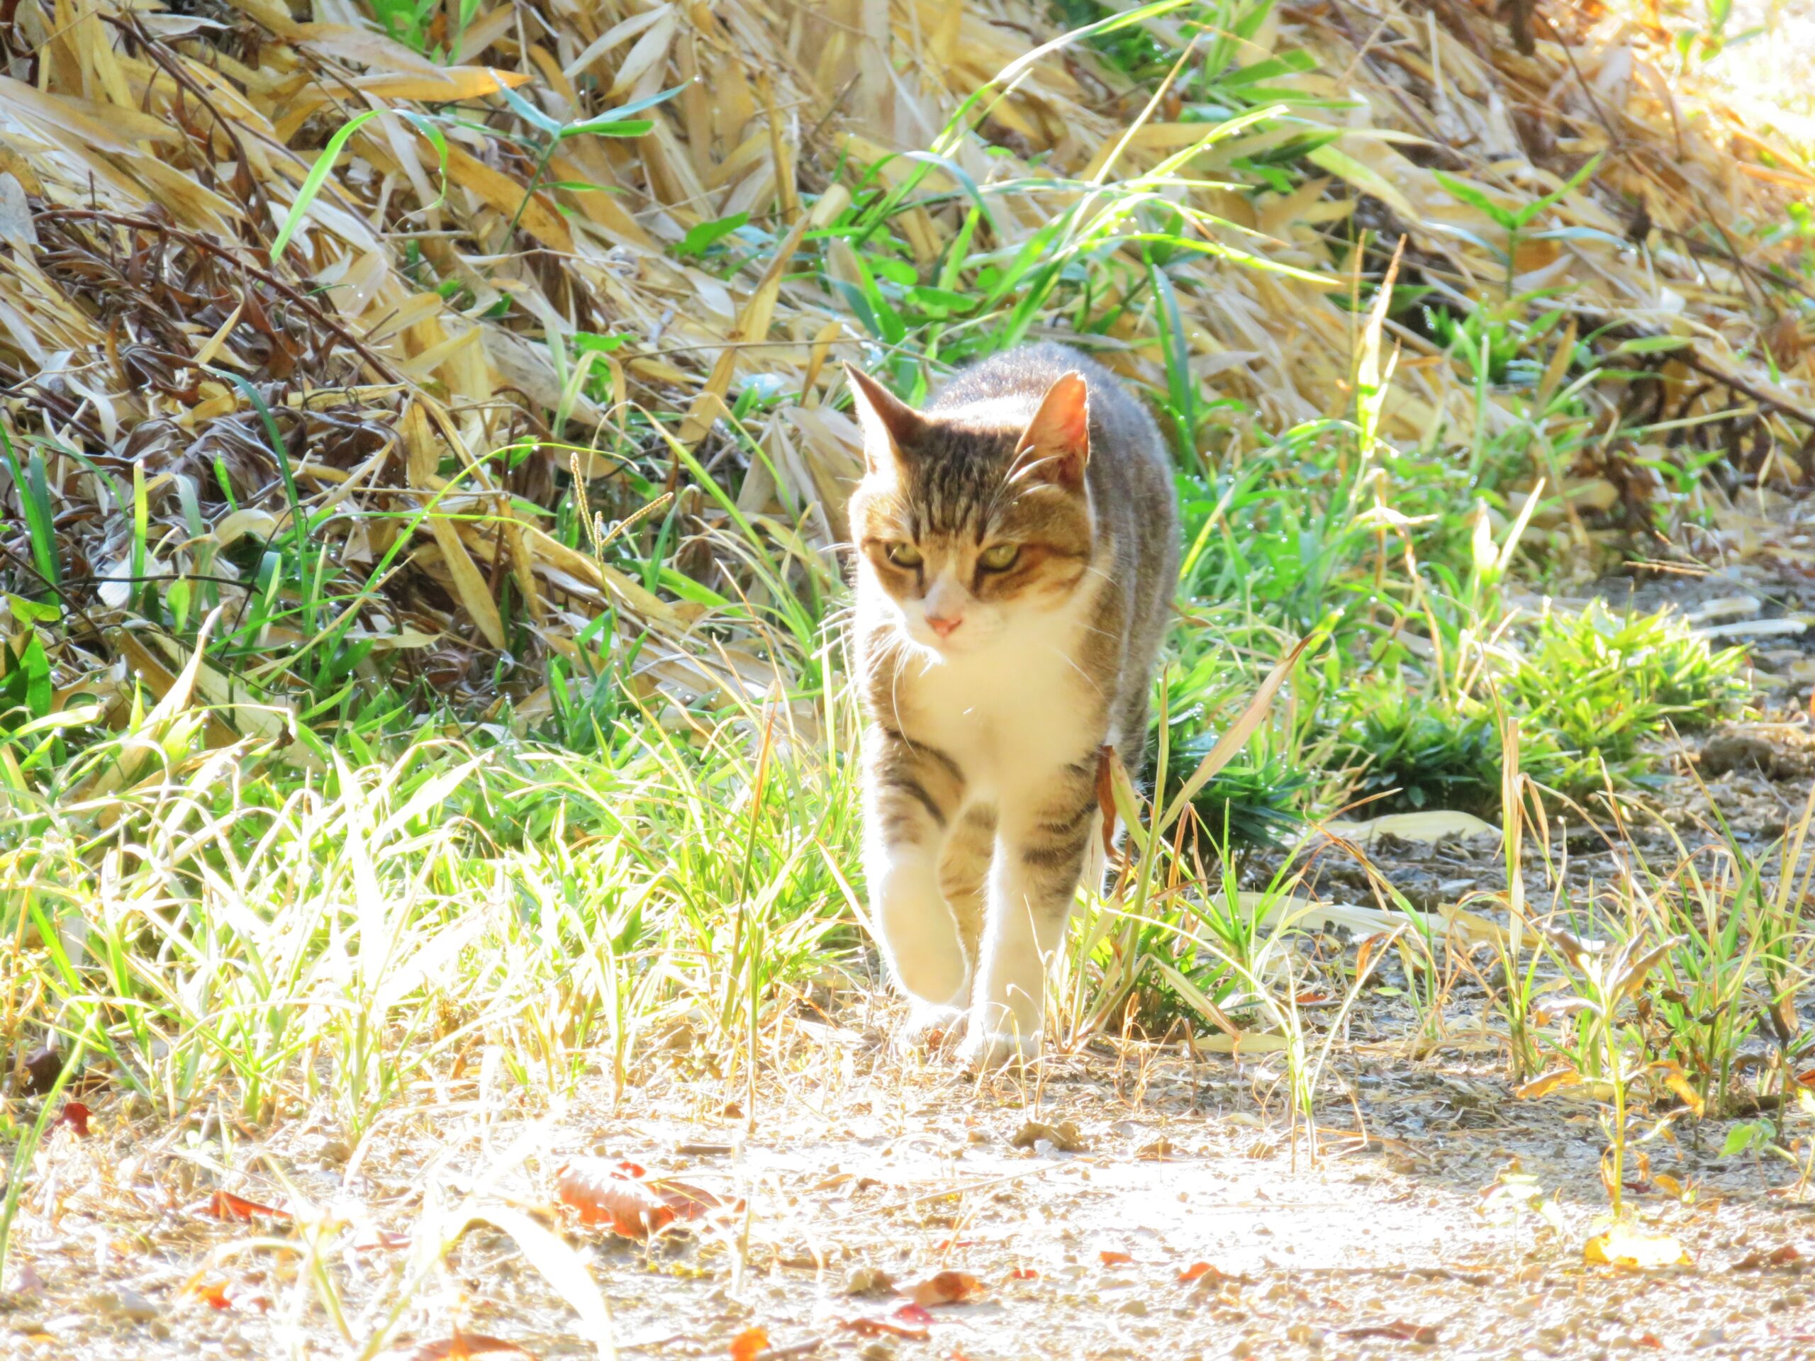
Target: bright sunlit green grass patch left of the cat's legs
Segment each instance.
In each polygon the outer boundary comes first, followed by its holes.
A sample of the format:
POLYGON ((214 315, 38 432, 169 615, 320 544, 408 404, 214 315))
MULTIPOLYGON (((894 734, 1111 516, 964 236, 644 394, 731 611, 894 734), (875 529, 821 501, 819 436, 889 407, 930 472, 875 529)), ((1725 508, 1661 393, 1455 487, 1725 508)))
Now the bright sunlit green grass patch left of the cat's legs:
POLYGON ((200 710, 154 708, 60 788, 9 791, 7 1038, 80 1036, 163 1116, 329 1100, 356 1132, 485 1045, 532 1091, 623 1091, 682 1023, 742 1072, 857 964, 849 715, 626 711, 595 753, 430 728, 316 764, 211 751, 200 710))

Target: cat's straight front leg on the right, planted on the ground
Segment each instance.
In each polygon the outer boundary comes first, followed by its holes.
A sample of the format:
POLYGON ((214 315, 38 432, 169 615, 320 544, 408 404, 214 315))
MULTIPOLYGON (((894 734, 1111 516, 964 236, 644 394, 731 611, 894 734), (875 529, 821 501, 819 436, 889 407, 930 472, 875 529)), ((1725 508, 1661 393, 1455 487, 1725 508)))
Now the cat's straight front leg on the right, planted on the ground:
POLYGON ((1096 837, 1096 760, 1060 768, 998 813, 989 918, 962 1054, 993 1069, 1038 1056, 1045 974, 1096 837))

